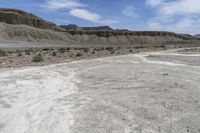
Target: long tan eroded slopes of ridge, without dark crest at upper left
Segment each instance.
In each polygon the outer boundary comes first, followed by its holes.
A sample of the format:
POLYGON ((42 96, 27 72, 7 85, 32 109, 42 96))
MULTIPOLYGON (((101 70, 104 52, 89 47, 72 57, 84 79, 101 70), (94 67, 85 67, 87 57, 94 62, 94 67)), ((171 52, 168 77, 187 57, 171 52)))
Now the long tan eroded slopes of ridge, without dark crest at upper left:
POLYGON ((135 45, 160 44, 168 41, 183 40, 176 34, 152 32, 152 35, 135 32, 137 34, 111 33, 111 32, 57 32, 48 29, 39 29, 25 25, 10 25, 0 23, 1 40, 18 40, 31 42, 49 42, 62 44, 90 44, 90 45, 135 45))

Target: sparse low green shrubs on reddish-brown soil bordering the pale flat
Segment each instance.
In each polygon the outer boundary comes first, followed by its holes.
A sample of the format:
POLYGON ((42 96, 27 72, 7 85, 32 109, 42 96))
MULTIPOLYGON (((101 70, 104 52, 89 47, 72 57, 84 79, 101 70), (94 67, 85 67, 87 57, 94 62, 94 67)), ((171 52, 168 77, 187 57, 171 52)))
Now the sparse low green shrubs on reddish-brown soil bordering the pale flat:
MULTIPOLYGON (((164 45, 164 44, 163 44, 164 45)), ((114 47, 114 46, 101 46, 101 47, 66 47, 66 48, 30 48, 30 49, 19 49, 19 50, 0 50, 0 67, 2 66, 23 66, 24 64, 29 64, 32 62, 43 62, 42 64, 58 63, 61 61, 73 61, 80 60, 83 58, 95 58, 95 57, 104 57, 104 56, 114 56, 114 55, 123 55, 130 53, 137 53, 148 50, 163 50, 169 48, 176 48, 177 46, 167 46, 167 45, 134 45, 126 47, 114 47), (163 48, 164 47, 164 48, 163 48), (7 59, 8 58, 8 59, 7 59), (12 61, 12 62, 11 62, 12 61)), ((187 51, 189 51, 187 49, 187 51)), ((191 51, 191 50, 190 50, 191 51)), ((199 49, 193 48, 192 51, 200 51, 199 49)), ((149 56, 153 57, 153 56, 149 56)))

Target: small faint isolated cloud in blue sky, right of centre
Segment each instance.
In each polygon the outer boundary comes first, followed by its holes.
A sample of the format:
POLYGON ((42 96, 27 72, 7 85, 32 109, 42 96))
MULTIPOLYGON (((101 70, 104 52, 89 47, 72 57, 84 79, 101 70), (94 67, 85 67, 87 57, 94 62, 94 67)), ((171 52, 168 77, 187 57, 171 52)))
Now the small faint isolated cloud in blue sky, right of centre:
POLYGON ((128 17, 133 17, 133 18, 138 17, 137 13, 135 12, 135 8, 133 6, 126 6, 122 10, 122 14, 128 17))

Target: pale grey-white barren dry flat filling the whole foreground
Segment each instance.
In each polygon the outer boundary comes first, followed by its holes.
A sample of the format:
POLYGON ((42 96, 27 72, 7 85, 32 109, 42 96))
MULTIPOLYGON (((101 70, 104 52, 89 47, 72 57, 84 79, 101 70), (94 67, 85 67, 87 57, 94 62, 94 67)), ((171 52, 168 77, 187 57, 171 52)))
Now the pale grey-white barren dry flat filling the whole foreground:
POLYGON ((0 69, 0 133, 200 133, 200 54, 0 69))

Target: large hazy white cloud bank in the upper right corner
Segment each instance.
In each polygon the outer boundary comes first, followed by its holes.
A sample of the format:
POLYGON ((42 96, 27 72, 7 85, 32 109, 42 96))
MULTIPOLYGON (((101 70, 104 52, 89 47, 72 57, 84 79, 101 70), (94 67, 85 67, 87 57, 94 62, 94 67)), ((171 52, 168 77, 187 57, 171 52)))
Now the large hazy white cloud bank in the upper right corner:
POLYGON ((158 13, 148 22, 148 27, 152 30, 197 34, 200 28, 199 7, 200 0, 163 1, 156 8, 154 6, 158 13))

